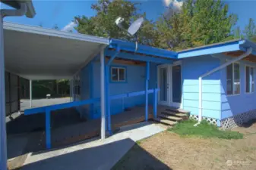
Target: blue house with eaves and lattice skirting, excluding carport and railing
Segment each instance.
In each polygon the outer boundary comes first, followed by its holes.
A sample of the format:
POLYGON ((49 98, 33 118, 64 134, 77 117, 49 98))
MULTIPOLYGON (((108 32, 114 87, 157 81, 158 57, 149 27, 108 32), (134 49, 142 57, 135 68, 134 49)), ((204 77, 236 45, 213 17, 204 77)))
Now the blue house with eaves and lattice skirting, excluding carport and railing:
MULTIPOLYGON (((107 93, 112 96, 157 88, 158 105, 188 110, 191 118, 232 128, 256 118, 254 55, 256 45, 248 40, 174 52, 144 45, 135 51, 134 43, 112 39, 105 49, 107 93)), ((74 79, 81 88, 75 100, 100 97, 100 56, 74 79)), ((147 101, 153 105, 154 99, 151 93, 146 100, 144 94, 107 101, 109 113, 115 115, 147 101)), ((77 109, 88 119, 101 115, 100 103, 77 109)))

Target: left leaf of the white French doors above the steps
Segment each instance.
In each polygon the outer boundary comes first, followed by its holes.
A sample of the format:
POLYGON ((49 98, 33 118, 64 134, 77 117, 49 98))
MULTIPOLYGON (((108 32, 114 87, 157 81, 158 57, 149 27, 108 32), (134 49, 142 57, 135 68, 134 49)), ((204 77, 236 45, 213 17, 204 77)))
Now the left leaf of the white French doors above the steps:
POLYGON ((158 104, 169 106, 169 64, 157 66, 158 104))

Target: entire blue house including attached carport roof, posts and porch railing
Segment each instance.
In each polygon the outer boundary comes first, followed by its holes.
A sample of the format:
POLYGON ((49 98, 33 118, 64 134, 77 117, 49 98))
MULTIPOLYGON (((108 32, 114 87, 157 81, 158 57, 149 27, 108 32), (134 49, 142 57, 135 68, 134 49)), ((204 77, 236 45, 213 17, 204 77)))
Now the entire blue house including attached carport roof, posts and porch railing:
POLYGON ((51 131, 52 111, 69 107, 88 120, 79 129, 95 124, 102 138, 115 125, 127 125, 121 122, 129 116, 164 122, 162 108, 187 111, 198 122, 207 119, 222 128, 256 119, 256 45, 248 40, 168 51, 14 23, 4 28, 6 70, 30 80, 71 79, 70 103, 25 110, 46 114, 47 148, 57 133, 51 131))

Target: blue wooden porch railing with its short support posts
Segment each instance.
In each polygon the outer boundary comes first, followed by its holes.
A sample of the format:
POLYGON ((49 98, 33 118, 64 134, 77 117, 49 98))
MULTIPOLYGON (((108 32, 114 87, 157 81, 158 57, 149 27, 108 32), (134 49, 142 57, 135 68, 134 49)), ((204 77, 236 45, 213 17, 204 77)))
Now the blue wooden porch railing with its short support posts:
MULTIPOLYGON (((156 117, 156 111, 157 111, 157 92, 158 91, 160 91, 159 88, 154 88, 147 91, 147 94, 151 94, 151 93, 154 94, 153 95, 153 116, 154 117, 156 117)), ((109 100, 115 100, 120 98, 123 99, 124 97, 134 97, 134 96, 139 96, 144 94, 146 94, 146 91, 137 91, 137 92, 131 92, 127 94, 117 94, 117 95, 109 96, 109 100)), ((37 113, 46 113, 46 148, 50 149, 52 145, 51 144, 51 111, 62 110, 70 107, 79 107, 86 104, 95 104, 97 102, 100 102, 100 97, 91 98, 88 100, 74 101, 74 102, 69 102, 65 104, 54 104, 46 107, 36 107, 32 109, 27 109, 27 110, 24 110, 24 114, 32 115, 37 113)), ((146 111, 146 116, 147 116, 147 111, 146 111)))

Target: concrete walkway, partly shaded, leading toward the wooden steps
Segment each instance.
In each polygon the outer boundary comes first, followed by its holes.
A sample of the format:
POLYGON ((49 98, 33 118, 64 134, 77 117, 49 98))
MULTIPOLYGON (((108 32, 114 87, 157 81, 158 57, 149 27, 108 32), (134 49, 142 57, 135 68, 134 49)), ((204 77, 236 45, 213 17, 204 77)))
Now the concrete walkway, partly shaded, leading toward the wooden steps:
POLYGON ((21 170, 108 170, 133 147, 136 141, 164 130, 163 126, 150 122, 129 125, 104 141, 94 139, 58 150, 31 153, 21 170))

